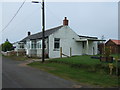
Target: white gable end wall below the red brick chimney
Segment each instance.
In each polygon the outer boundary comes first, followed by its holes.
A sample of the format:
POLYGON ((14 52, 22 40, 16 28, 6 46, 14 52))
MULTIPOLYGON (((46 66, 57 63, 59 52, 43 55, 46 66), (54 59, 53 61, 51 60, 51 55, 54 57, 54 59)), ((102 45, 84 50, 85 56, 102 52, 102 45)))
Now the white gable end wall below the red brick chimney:
POLYGON ((82 47, 81 42, 75 41, 78 39, 78 35, 69 26, 64 26, 58 31, 49 36, 49 57, 59 58, 60 51, 54 51, 54 38, 60 38, 60 47, 66 55, 70 55, 70 47, 72 48, 72 55, 81 55, 82 47))

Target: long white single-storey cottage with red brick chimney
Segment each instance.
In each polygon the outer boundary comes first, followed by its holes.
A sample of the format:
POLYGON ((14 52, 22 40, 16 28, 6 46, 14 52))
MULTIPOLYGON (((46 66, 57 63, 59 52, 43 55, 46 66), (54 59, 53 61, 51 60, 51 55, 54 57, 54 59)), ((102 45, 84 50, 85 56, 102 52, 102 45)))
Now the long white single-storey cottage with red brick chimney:
MULTIPOLYGON (((63 25, 45 31, 45 54, 49 58, 59 58, 60 47, 62 47, 62 53, 67 56, 70 56, 70 54, 98 54, 98 42, 101 40, 97 37, 78 35, 69 27, 68 24, 69 21, 65 17, 63 25)), ((14 46, 16 47, 15 50, 25 50, 26 55, 29 57, 41 57, 42 32, 32 35, 28 32, 28 36, 14 44, 14 46)))

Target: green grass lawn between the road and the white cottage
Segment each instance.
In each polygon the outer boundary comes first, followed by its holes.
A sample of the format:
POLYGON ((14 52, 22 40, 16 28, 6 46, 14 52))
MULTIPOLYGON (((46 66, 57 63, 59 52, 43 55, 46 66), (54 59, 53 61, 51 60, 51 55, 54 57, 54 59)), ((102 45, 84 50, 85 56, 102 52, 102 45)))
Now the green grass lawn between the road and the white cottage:
POLYGON ((45 63, 33 62, 28 65, 83 85, 117 87, 118 77, 115 72, 113 75, 109 75, 108 63, 90 57, 74 56, 50 59, 45 63))

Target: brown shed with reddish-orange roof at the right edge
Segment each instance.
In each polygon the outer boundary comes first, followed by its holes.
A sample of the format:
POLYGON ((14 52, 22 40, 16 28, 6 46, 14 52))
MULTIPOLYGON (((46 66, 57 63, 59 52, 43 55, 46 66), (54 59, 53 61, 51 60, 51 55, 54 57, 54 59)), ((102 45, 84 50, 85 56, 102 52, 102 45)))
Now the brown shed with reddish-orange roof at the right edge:
POLYGON ((111 54, 120 54, 120 40, 109 39, 105 46, 109 46, 111 54))

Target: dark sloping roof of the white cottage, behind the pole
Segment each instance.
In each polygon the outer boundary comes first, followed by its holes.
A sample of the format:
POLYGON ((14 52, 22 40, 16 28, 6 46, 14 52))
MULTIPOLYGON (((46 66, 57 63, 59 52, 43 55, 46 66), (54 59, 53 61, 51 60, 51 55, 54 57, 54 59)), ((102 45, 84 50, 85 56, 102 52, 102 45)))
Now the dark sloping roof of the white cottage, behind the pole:
MULTIPOLYGON (((49 35, 51 35, 52 33, 54 33, 55 31, 59 30, 61 27, 63 27, 63 25, 45 30, 45 38, 48 37, 49 35)), ((27 39, 32 40, 32 39, 41 39, 41 38, 42 38, 42 32, 39 32, 39 33, 32 34, 32 35, 29 35, 29 36, 25 37, 20 42, 25 42, 27 39)))

